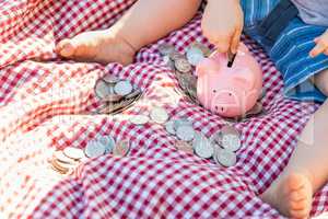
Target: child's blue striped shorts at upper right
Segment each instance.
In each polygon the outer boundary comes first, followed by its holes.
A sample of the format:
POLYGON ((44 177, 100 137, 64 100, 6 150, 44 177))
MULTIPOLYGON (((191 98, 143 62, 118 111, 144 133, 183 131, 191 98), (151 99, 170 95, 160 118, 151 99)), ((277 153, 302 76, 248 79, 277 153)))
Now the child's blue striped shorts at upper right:
POLYGON ((308 80, 328 69, 328 57, 311 58, 308 53, 315 46, 314 38, 327 27, 304 23, 298 16, 291 20, 273 45, 258 33, 261 21, 274 9, 279 0, 241 0, 245 13, 245 33, 256 39, 269 54, 281 71, 285 96, 300 101, 324 102, 325 96, 308 80))

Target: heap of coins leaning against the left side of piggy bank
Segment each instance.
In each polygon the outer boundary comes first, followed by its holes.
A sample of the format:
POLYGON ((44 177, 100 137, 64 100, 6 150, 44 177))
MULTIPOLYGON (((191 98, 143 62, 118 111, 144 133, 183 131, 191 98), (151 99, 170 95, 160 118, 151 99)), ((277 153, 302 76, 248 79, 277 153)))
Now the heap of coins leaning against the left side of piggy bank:
POLYGON ((159 47, 164 62, 174 70, 179 87, 184 93, 195 103, 199 104, 197 99, 197 78, 192 74, 195 67, 210 55, 210 49, 206 46, 194 43, 186 54, 178 53, 173 45, 163 44, 159 47))

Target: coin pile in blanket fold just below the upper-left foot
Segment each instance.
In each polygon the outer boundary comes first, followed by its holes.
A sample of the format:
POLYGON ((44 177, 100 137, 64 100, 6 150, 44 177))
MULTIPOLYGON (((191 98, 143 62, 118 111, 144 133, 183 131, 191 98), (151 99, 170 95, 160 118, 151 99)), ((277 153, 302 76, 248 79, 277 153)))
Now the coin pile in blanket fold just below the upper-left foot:
POLYGON ((105 107, 98 113, 119 114, 132 106, 142 95, 140 89, 128 80, 119 80, 114 76, 105 76, 96 81, 94 87, 96 96, 105 102, 105 107))

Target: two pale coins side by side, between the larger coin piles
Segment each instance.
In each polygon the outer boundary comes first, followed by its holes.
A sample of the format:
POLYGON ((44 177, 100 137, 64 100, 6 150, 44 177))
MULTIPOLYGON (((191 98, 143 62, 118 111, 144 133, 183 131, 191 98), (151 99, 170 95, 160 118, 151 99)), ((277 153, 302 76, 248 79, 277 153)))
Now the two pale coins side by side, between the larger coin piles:
POLYGON ((155 124, 164 124, 168 119, 168 113, 164 107, 153 107, 149 115, 133 115, 129 118, 129 120, 134 125, 145 125, 149 122, 155 124))

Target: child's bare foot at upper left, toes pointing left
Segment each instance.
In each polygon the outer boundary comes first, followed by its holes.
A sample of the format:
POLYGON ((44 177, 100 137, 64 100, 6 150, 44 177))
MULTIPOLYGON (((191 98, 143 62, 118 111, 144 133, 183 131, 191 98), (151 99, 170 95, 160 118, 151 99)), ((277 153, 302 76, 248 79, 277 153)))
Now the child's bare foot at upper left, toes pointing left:
POLYGON ((85 32, 63 39, 58 43, 55 51, 65 58, 105 65, 131 64, 136 54, 128 42, 113 34, 110 30, 85 32))

